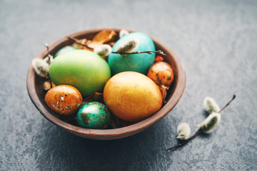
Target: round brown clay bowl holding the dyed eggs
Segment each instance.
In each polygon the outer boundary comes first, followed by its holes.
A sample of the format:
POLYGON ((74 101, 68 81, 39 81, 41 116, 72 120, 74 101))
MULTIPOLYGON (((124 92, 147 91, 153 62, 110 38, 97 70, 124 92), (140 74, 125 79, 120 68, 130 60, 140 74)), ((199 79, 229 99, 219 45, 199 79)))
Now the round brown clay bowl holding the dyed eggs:
MULTIPOLYGON (((91 39, 94 37, 94 35, 96 35, 96 33, 103 29, 107 28, 78 31, 75 33, 71 33, 69 36, 72 36, 74 38, 91 39)), ((117 33, 119 33, 120 31, 120 29, 118 28, 108 29, 113 29, 117 33)), ((34 105, 39 110, 41 115, 43 115, 47 120, 59 126, 60 128, 68 131, 69 133, 78 135, 83 138, 97 140, 114 140, 129 137, 131 135, 135 135, 136 133, 140 133, 141 131, 146 130, 146 128, 149 128, 154 123, 157 123, 158 120, 161 120, 161 118, 167 115, 175 107, 175 105, 178 103, 178 100, 180 100, 181 95, 183 94, 183 90, 186 86, 186 73, 183 68, 183 64, 181 63, 176 53, 174 53, 171 50, 171 48, 163 46, 163 44, 161 44, 159 41, 156 41, 154 38, 152 39, 155 43, 156 50, 161 49, 164 53, 166 53, 165 61, 168 62, 173 68, 174 81, 172 83, 171 88, 168 90, 166 104, 163 105, 163 107, 160 110, 158 110, 157 113, 151 115, 149 118, 146 118, 145 120, 142 120, 141 122, 134 123, 123 128, 115 128, 108 130, 87 129, 78 127, 76 125, 72 125, 71 123, 66 123, 64 120, 61 120, 60 118, 56 117, 56 115, 53 114, 53 111, 51 111, 51 109, 48 108, 48 106, 44 102, 44 95, 46 94, 46 91, 43 89, 43 83, 45 79, 37 76, 32 66, 29 67, 29 72, 26 81, 29 97, 31 98, 31 101, 34 103, 34 105)), ((60 48, 66 45, 71 45, 72 43, 74 42, 66 37, 59 38, 58 40, 49 44, 50 54, 54 55, 60 48)), ((46 48, 44 48, 44 50, 39 52, 35 56, 35 58, 44 58, 46 55, 46 48)))

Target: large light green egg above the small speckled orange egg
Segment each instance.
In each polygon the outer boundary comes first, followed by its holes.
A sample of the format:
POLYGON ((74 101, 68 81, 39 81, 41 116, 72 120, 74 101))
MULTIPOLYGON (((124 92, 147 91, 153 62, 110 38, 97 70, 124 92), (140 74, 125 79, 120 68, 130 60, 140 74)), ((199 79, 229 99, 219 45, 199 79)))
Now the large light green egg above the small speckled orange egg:
POLYGON ((56 85, 71 85, 83 97, 93 92, 102 92, 111 77, 108 63, 94 52, 74 50, 54 58, 49 67, 49 76, 56 85))

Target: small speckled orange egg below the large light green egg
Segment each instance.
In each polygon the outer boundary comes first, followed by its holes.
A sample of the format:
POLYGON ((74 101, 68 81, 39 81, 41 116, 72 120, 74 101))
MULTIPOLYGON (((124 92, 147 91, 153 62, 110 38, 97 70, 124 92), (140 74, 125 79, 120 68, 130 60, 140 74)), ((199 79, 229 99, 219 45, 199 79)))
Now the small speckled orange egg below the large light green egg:
POLYGON ((79 90, 69 85, 55 86, 47 91, 46 105, 61 115, 72 115, 81 107, 82 96, 79 90))

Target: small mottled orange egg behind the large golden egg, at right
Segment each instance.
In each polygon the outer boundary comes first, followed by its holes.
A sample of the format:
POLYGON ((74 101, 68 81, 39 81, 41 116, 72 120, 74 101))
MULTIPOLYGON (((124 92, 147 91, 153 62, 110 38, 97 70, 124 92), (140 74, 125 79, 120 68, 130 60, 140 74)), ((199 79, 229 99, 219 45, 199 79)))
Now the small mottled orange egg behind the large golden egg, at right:
POLYGON ((154 63, 147 73, 147 76, 157 84, 157 86, 171 86, 174 74, 171 66, 166 62, 154 63))

